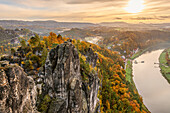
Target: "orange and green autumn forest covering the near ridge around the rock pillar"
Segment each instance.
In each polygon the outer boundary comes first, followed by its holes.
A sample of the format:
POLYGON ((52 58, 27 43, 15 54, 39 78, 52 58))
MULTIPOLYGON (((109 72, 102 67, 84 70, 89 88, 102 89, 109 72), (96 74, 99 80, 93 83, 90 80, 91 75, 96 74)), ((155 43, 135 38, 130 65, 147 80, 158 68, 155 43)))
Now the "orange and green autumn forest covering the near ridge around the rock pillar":
MULTIPOLYGON (((100 99, 101 113, 149 112, 134 84, 126 79, 125 65, 121 55, 104 47, 85 41, 65 38, 51 32, 49 36, 44 36, 43 40, 38 35, 31 37, 28 42, 21 40, 20 47, 11 49, 10 58, 3 56, 1 60, 8 59, 10 62, 19 64, 24 68, 28 76, 33 76, 37 80, 39 78, 38 73, 44 69, 47 53, 50 49, 69 40, 71 40, 79 52, 83 82, 89 82, 89 73, 97 73, 100 78, 101 87, 98 92, 98 98, 100 99), (86 58, 83 56, 89 50, 94 51, 98 55, 96 67, 87 63, 86 58), (19 59, 16 59, 16 57, 19 59)), ((48 102, 40 103, 38 109, 40 111, 46 110, 46 107, 43 108, 46 104, 48 102)))

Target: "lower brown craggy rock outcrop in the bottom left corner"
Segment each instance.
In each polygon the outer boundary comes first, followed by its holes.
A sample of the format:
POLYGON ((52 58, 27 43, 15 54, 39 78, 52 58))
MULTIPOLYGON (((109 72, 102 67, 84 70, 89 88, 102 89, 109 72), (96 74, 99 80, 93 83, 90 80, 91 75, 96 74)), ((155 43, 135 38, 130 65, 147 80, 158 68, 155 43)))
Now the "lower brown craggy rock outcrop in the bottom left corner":
POLYGON ((17 65, 0 65, 0 113, 35 113, 34 80, 17 65))

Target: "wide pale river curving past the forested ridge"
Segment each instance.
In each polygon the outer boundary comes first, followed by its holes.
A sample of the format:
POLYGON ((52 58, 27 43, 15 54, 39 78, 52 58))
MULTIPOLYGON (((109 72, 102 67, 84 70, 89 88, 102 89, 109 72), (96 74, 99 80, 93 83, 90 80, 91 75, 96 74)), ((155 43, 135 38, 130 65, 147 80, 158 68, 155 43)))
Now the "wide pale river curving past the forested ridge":
POLYGON ((162 76, 158 64, 163 49, 147 52, 133 61, 133 80, 151 113, 170 113, 170 84, 162 76))

